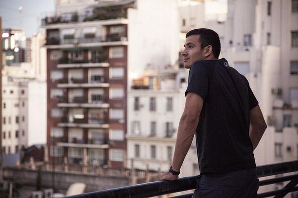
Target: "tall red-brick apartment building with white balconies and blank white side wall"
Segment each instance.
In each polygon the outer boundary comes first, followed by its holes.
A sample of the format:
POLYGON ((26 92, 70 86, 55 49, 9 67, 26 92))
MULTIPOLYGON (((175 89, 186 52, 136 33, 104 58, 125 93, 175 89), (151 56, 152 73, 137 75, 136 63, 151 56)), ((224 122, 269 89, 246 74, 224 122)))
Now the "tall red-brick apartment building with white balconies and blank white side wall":
POLYGON ((50 160, 125 166, 129 79, 151 62, 177 59, 178 42, 165 39, 177 34, 175 6, 172 0, 56 1, 56 13, 42 21, 50 160), (159 20, 165 13, 171 17, 159 20))

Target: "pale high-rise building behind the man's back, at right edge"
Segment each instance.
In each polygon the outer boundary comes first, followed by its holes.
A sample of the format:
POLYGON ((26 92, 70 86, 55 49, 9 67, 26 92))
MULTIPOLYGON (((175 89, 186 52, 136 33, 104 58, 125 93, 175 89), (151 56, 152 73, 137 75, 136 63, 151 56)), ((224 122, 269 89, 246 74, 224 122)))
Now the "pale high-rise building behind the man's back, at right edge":
POLYGON ((228 0, 222 54, 249 80, 269 126, 258 165, 298 159, 297 21, 298 0, 228 0))

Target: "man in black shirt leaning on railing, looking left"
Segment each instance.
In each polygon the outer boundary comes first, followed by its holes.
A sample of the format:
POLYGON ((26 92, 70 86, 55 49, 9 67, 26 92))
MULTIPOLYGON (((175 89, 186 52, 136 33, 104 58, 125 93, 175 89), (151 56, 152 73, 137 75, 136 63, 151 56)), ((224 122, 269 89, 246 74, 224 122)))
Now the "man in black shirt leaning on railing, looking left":
POLYGON ((182 52, 190 68, 172 167, 160 180, 177 180, 196 133, 200 176, 193 198, 256 198, 253 150, 267 128, 247 79, 218 59, 221 43, 210 29, 186 34, 182 52))

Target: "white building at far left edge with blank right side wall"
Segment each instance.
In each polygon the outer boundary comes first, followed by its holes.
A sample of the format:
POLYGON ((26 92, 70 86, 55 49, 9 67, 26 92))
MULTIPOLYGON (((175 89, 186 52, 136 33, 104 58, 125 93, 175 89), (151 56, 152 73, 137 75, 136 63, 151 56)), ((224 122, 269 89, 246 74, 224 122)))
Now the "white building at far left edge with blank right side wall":
POLYGON ((2 147, 6 154, 46 142, 46 84, 29 63, 2 70, 2 147))

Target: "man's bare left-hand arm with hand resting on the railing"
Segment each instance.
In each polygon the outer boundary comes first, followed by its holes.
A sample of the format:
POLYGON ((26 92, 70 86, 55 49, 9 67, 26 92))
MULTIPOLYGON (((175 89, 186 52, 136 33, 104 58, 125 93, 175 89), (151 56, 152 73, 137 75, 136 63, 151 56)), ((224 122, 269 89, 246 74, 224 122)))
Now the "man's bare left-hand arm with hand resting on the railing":
MULTIPOLYGON (((189 92, 186 96, 184 112, 179 122, 175 152, 172 163, 172 169, 176 172, 179 172, 183 160, 194 138, 202 108, 202 97, 196 93, 189 92)), ((161 176, 159 179, 176 180, 178 179, 178 176, 167 173, 161 176)))

